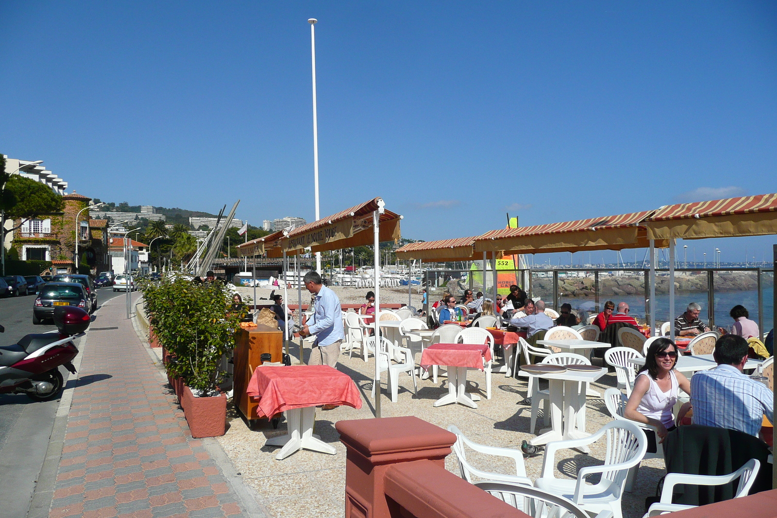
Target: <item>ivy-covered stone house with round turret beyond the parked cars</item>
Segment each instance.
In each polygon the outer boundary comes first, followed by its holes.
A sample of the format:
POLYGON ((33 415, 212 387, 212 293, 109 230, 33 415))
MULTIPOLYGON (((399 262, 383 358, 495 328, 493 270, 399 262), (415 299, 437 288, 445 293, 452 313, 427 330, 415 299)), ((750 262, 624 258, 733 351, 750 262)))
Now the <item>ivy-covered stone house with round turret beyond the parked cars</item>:
POLYGON ((13 247, 23 261, 50 261, 51 273, 75 273, 75 239, 81 273, 110 270, 106 220, 90 220, 92 198, 73 193, 62 196, 64 210, 26 221, 14 232, 13 247), (80 211, 80 214, 78 214, 80 211), (78 221, 76 221, 78 217, 78 221))

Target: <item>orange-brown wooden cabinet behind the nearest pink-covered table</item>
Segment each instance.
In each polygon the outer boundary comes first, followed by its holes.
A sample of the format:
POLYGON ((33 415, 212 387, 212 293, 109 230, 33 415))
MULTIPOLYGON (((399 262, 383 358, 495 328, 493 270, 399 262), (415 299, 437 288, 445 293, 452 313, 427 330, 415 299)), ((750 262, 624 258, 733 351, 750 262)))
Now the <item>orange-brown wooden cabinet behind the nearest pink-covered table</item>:
POLYGON ((259 367, 263 353, 273 355, 271 362, 283 360, 284 334, 280 329, 272 329, 267 325, 257 325, 255 328, 242 329, 235 346, 234 395, 232 401, 235 408, 249 421, 259 419, 256 415, 257 403, 246 395, 246 387, 256 367, 259 367))

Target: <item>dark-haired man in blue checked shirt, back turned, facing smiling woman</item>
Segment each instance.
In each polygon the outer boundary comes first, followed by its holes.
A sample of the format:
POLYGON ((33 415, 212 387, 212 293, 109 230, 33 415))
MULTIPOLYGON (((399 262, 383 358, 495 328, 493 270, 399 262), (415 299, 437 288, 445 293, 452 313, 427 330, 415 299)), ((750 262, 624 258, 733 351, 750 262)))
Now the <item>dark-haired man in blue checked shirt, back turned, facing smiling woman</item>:
POLYGON ((693 375, 691 405, 695 425, 718 426, 758 436, 764 415, 774 422, 772 391, 742 374, 747 348, 747 341, 741 336, 723 335, 715 344, 718 367, 693 375))

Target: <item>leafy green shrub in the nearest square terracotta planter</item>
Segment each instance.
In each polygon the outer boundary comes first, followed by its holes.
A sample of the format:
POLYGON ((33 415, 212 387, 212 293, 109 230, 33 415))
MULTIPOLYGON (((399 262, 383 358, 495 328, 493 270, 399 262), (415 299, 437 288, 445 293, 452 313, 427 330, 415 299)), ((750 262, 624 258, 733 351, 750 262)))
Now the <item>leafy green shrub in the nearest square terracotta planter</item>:
POLYGON ((148 321, 168 355, 165 367, 193 437, 225 433, 227 398, 218 390, 221 358, 235 344, 242 315, 228 311, 225 283, 183 276, 142 287, 148 321))

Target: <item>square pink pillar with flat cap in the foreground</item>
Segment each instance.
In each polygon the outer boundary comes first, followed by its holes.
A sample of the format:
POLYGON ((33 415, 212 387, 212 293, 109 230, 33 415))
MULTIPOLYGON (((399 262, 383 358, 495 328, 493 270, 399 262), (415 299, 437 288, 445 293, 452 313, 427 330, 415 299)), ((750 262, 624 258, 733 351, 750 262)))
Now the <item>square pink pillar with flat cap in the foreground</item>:
POLYGON ((395 464, 428 460, 444 469, 456 436, 414 416, 354 419, 335 425, 345 444, 346 518, 389 518, 386 471, 395 464))

